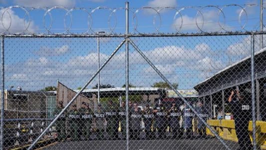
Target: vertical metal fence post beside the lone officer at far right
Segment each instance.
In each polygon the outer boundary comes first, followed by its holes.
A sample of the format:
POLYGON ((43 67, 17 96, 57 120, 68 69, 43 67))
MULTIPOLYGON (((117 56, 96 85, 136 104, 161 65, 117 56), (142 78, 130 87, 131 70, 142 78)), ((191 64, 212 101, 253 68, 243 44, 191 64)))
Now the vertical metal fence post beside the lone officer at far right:
POLYGON ((252 137, 253 149, 257 149, 256 143, 256 105, 255 105, 255 62, 254 62, 254 49, 255 38, 254 34, 251 35, 251 86, 252 86, 252 137))

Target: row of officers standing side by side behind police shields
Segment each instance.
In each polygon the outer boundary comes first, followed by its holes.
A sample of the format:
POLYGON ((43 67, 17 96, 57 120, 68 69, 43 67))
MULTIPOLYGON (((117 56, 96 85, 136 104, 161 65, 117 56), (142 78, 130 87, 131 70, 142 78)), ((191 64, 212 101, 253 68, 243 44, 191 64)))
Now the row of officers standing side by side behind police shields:
MULTIPOLYGON (((59 101, 53 113, 54 117, 56 117, 62 109, 63 103, 62 101, 59 101)), ((176 102, 173 101, 170 108, 167 108, 163 103, 157 103, 153 108, 150 107, 149 104, 146 104, 145 108, 141 110, 137 103, 132 104, 132 101, 129 101, 129 138, 154 139, 157 137, 163 139, 166 138, 166 129, 168 126, 172 133, 171 137, 180 138, 184 132, 183 127, 180 127, 181 116, 183 117, 184 122, 182 126, 186 129, 187 136, 191 137, 192 118, 195 115, 189 107, 185 106, 184 109, 181 110, 176 102), (145 126, 144 137, 140 137, 142 120, 145 126)), ((55 122, 58 134, 57 139, 60 141, 65 140, 67 137, 66 124, 68 124, 70 129, 68 131, 68 136, 71 136, 72 140, 80 140, 81 136, 83 136, 84 139, 90 139, 92 132, 97 133, 97 139, 125 139, 125 102, 122 102, 121 106, 117 107, 111 100, 109 100, 108 105, 105 108, 103 108, 101 104, 98 104, 97 110, 94 112, 86 102, 82 102, 79 109, 77 109, 75 104, 72 105, 72 109, 63 113, 55 122), (118 133, 119 126, 122 134, 120 136, 118 133)), ((198 127, 204 128, 203 125, 198 127)))

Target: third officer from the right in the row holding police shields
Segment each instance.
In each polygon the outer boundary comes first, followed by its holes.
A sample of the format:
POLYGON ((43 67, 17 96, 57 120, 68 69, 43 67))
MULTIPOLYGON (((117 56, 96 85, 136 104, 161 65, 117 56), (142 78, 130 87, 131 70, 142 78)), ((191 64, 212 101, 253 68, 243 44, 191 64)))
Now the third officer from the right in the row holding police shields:
POLYGON ((181 110, 176 105, 176 101, 172 102, 172 106, 169 109, 169 124, 172 131, 172 138, 181 137, 183 134, 183 131, 180 129, 179 120, 181 117, 181 110))

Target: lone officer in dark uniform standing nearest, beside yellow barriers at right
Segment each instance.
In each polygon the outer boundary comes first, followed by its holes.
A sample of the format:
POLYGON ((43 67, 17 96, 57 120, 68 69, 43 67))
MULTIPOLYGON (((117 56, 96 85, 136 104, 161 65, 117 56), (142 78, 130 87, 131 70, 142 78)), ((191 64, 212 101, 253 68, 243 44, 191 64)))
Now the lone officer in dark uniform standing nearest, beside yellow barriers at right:
POLYGON ((228 98, 229 104, 235 118, 236 133, 239 142, 239 149, 252 149, 249 136, 249 121, 252 116, 250 99, 245 99, 244 94, 240 95, 238 89, 231 91, 228 98))

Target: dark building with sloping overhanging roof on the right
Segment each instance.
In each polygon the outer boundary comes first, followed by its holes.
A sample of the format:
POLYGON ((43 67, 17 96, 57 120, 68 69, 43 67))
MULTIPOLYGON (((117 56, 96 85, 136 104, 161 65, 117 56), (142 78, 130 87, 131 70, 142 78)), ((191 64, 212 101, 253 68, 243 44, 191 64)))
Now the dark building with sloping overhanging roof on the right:
MULTIPOLYGON (((266 48, 255 53, 255 83, 257 119, 266 120, 266 48)), ((211 107, 212 117, 221 110, 223 114, 230 112, 227 98, 232 89, 250 93, 251 99, 251 56, 225 67, 194 88, 199 92, 199 99, 211 107)))

